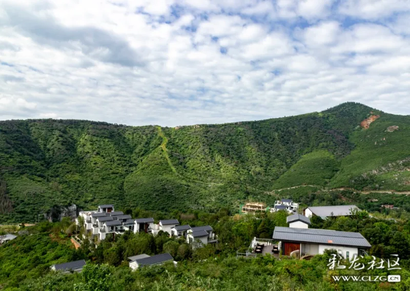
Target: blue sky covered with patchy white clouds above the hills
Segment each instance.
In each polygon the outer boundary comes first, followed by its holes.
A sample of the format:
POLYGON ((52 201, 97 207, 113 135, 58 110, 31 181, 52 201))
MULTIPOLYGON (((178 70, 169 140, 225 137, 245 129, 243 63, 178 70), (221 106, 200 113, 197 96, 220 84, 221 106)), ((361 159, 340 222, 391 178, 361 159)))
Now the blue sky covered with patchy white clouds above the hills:
POLYGON ((410 114, 410 0, 0 0, 0 120, 410 114))

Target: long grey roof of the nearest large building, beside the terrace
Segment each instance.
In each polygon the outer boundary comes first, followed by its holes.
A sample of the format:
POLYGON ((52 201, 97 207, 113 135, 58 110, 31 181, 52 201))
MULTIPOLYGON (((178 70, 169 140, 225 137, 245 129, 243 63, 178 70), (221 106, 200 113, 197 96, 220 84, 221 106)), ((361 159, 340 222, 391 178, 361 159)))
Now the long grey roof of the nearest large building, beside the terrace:
POLYGON ((336 231, 314 228, 292 228, 275 226, 273 239, 317 243, 326 245, 344 245, 370 248, 371 245, 359 232, 336 231))

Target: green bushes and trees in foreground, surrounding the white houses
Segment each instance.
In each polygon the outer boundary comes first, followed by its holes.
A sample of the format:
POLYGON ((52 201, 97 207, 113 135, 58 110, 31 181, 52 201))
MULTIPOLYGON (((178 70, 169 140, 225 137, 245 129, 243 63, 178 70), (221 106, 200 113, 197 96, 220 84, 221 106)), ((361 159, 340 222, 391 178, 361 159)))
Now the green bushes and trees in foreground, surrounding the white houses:
MULTIPOLYGON (((134 209, 133 216, 149 212, 134 209)), ((151 212, 156 219, 160 212, 151 212)), ((244 252, 253 237, 271 238, 275 226, 286 225, 286 214, 260 214, 230 217, 227 210, 215 214, 193 211, 174 212, 166 218, 177 218, 191 226, 211 224, 219 242, 192 250, 183 240, 126 232, 114 241, 108 239, 95 248, 85 240, 75 250, 70 246, 64 230, 69 221, 43 222, 26 227, 27 235, 0 247, 0 286, 2 290, 39 291, 120 291, 120 290, 408 290, 410 288, 410 223, 408 214, 400 220, 371 218, 366 212, 357 212, 348 218, 322 221, 315 218, 312 228, 358 231, 372 244, 370 255, 387 259, 391 254, 400 257, 401 270, 329 270, 330 254, 310 261, 271 256, 252 259, 236 258, 244 252), (144 267, 132 272, 127 257, 138 254, 170 253, 178 262, 144 267), (86 259, 87 266, 80 274, 53 273, 55 263, 86 259), (401 275, 400 283, 388 282, 334 282, 331 276, 386 276, 401 275)), ((370 262, 371 258, 364 258, 370 262)), ((367 266, 366 266, 367 267, 367 266)))

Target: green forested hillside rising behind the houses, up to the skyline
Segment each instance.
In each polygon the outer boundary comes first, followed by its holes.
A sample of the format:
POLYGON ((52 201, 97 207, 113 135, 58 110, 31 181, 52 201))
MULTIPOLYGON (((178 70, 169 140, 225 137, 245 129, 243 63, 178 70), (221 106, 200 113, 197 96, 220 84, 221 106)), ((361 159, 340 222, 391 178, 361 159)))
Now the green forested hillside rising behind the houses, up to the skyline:
POLYGON ((357 103, 255 122, 175 128, 0 122, 0 222, 53 205, 236 209, 274 189, 410 190, 410 117, 357 103), (372 122, 373 121, 373 122, 372 122))

